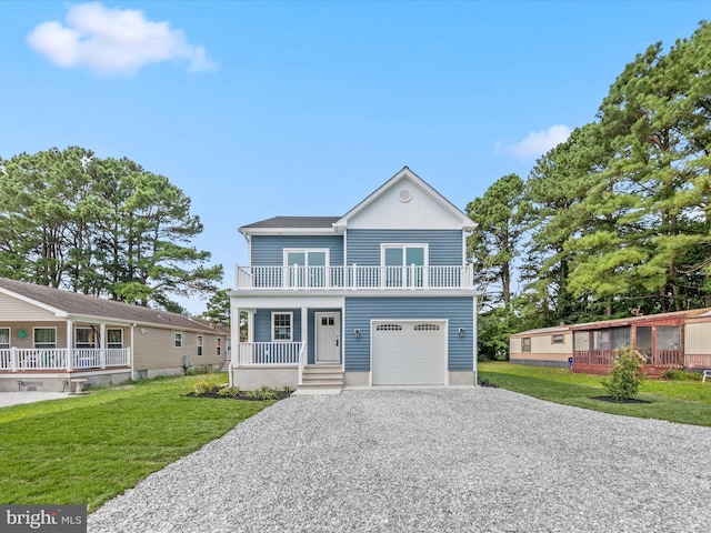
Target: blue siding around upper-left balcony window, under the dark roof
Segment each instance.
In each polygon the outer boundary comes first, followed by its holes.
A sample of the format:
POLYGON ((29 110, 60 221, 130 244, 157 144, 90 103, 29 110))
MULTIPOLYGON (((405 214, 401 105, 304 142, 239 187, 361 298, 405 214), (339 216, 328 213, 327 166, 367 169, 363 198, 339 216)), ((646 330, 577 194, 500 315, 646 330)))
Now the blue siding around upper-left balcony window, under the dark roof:
POLYGON ((279 266, 284 262, 284 248, 328 248, 332 266, 343 264, 341 235, 252 235, 251 266, 279 266))

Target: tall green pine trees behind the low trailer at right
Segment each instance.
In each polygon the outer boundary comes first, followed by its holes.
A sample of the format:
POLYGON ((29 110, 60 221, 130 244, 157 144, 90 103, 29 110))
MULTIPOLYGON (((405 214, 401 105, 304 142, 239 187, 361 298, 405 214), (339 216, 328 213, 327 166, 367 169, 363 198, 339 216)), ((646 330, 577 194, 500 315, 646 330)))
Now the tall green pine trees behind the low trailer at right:
POLYGON ((484 358, 515 331, 711 305, 711 26, 638 54, 591 123, 467 212, 484 358))

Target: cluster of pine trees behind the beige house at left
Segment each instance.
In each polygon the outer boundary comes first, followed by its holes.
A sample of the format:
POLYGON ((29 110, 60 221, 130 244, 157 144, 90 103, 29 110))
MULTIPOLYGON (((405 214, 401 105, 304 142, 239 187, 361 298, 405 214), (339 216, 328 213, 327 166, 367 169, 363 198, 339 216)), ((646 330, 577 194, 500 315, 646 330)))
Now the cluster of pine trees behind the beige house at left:
POLYGON ((0 276, 184 312, 222 265, 191 240, 190 198, 129 159, 70 147, 0 159, 0 276))

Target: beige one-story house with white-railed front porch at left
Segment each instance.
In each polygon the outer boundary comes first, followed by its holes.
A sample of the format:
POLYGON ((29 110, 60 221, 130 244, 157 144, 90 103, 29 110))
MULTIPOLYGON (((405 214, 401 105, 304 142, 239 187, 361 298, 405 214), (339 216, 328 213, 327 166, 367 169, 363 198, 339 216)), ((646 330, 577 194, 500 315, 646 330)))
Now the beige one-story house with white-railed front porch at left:
POLYGON ((221 368, 229 339, 204 320, 0 278, 0 391, 221 368))

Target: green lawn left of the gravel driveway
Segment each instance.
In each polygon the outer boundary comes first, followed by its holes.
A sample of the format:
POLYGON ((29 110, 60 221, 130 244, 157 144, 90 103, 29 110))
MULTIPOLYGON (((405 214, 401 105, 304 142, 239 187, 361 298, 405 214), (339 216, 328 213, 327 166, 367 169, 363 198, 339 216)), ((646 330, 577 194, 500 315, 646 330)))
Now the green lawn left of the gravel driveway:
POLYGON ((0 409, 0 503, 96 510, 274 403, 187 398, 188 376, 0 409))

